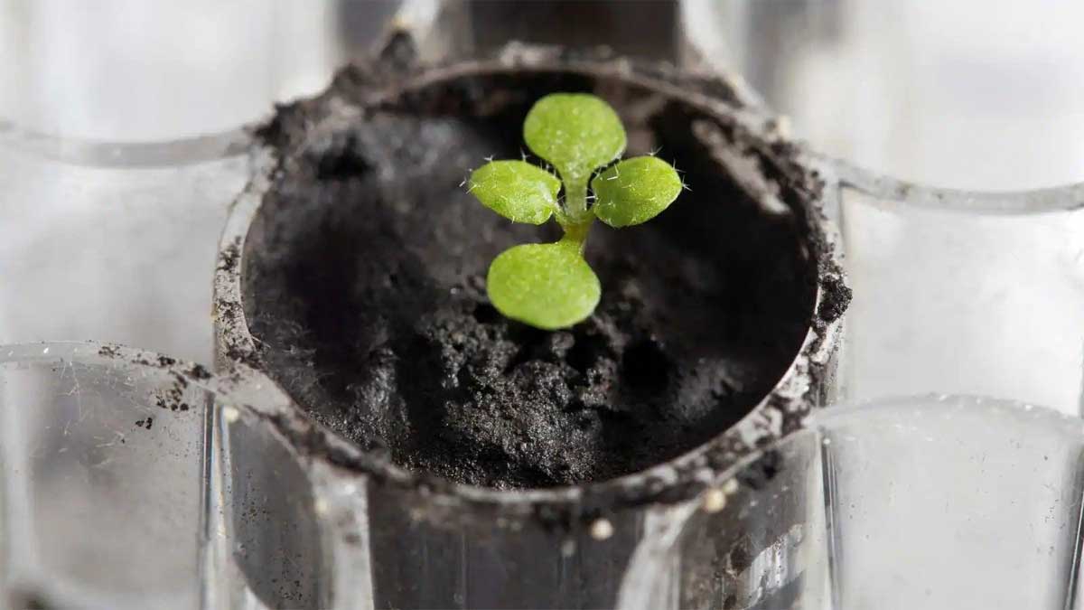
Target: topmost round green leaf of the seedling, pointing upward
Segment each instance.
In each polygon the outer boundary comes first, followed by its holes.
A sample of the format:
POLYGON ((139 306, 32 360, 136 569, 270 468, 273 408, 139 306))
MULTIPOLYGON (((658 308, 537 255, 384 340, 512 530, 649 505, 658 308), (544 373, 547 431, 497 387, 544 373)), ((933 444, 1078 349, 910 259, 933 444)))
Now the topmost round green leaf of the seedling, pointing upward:
POLYGON ((624 152, 624 127, 609 104, 589 93, 551 93, 524 120, 524 140, 566 181, 591 173, 624 152))

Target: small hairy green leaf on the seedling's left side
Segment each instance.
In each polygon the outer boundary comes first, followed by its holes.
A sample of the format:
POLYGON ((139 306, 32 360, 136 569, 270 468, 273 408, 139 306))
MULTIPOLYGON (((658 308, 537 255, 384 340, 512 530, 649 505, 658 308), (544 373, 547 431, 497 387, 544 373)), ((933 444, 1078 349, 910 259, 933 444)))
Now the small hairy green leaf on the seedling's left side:
POLYGON ((501 216, 541 225, 557 208, 560 180, 522 161, 491 161, 470 174, 469 191, 501 216))

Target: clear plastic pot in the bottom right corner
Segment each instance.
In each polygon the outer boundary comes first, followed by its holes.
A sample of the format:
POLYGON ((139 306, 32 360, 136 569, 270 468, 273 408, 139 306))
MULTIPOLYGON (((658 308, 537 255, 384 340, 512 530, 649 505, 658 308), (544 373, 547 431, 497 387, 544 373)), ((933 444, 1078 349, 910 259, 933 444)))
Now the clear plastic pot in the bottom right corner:
POLYGON ((1019 403, 818 411, 637 548, 620 608, 1079 608, 1082 450, 1019 403))

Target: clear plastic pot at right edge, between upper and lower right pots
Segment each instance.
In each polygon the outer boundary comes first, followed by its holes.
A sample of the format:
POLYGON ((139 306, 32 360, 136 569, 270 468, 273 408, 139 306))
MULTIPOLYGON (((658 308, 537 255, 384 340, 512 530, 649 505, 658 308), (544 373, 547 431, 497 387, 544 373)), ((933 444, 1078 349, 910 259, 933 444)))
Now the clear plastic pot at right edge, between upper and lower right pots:
POLYGON ((854 289, 841 392, 1084 406, 1084 186, 931 189, 837 165, 854 289))

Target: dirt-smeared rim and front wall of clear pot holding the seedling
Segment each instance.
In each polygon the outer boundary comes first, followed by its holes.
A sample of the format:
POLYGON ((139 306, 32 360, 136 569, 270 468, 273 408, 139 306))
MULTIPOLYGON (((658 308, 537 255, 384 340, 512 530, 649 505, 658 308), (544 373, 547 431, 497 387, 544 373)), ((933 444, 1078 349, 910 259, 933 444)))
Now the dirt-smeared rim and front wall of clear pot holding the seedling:
MULTIPOLYGON (((320 521, 334 548, 335 602, 341 607, 610 607, 632 549, 660 519, 669 518, 670 506, 718 483, 719 472, 758 444, 792 430, 834 391, 833 356, 840 307, 846 307, 846 296, 842 303, 827 296, 846 292, 831 245, 835 236, 821 209, 816 168, 790 165, 787 153, 779 152, 789 150, 789 143, 769 115, 747 105, 728 81, 707 75, 685 76, 695 82, 709 79, 720 97, 691 92, 700 85, 676 87, 681 76, 672 68, 645 69, 591 54, 566 59, 521 46, 493 60, 422 72, 416 80, 433 86, 487 71, 604 74, 615 82, 625 79, 667 94, 692 96, 698 111, 741 134, 741 143, 719 160, 734 180, 769 208, 789 206, 808 228, 817 303, 789 369, 739 423, 676 459, 612 481, 524 491, 453 484, 363 453, 313 423, 300 408, 269 419, 311 468, 320 521), (775 182, 765 167, 787 178, 775 182)), ((235 202, 223 232, 215 280, 221 367, 238 361, 261 367, 245 317, 242 276, 245 240, 272 183, 273 165, 270 151, 257 151, 255 178, 235 202)))

